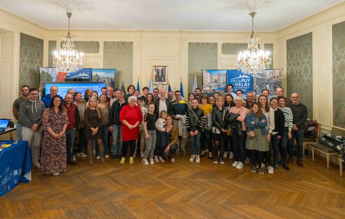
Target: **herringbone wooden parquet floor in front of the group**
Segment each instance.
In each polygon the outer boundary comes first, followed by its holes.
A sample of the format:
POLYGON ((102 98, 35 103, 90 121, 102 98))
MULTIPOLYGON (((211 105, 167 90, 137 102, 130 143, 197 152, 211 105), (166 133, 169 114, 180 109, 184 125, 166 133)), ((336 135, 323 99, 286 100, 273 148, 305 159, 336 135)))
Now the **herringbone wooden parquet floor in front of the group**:
MULTIPOLYGON (((188 148, 189 149, 189 148, 188 148)), ((189 152, 189 150, 188 150, 189 152)), ((59 176, 32 170, 32 180, 0 198, 0 218, 344 218, 345 177, 322 157, 270 175, 237 170, 207 157, 145 166, 136 157, 67 166, 59 176)))

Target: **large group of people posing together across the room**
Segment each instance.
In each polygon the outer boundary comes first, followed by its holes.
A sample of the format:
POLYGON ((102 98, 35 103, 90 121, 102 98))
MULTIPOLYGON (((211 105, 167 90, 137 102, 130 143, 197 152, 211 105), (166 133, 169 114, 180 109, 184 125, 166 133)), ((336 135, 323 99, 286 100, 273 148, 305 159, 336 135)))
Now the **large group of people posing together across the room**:
POLYGON ((299 95, 293 93, 289 99, 277 87, 277 96, 270 100, 267 89, 258 97, 248 92, 245 99, 242 90, 233 91, 228 84, 226 92, 208 96, 196 88, 184 101, 180 91, 158 88, 151 94, 144 87, 140 96, 134 85, 128 86, 127 95, 112 87, 102 87, 100 95, 70 88, 65 97, 52 86, 39 100, 36 88, 23 85, 13 115, 17 136, 29 142, 32 166, 42 174, 66 171, 67 163, 77 164, 75 156, 88 157, 90 165, 95 156, 105 163, 110 153, 120 164, 128 156, 133 164, 137 154, 144 165, 174 163, 176 154, 188 154, 188 138, 190 162, 200 163, 208 155, 214 164, 225 164, 229 158, 237 169, 252 163, 251 171, 259 174, 264 174, 264 167, 273 174, 279 165, 290 170, 296 139, 297 165, 303 167, 307 107, 299 95))

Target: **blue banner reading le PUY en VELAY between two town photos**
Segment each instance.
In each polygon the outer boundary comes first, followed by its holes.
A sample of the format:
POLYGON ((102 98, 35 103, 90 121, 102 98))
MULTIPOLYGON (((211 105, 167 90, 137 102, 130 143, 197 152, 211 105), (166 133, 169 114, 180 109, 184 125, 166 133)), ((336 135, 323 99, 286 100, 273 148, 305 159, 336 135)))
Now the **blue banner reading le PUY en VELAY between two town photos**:
POLYGON ((233 92, 236 93, 236 90, 241 89, 243 94, 247 94, 250 91, 253 91, 253 76, 245 74, 242 71, 238 70, 226 70, 228 80, 227 84, 234 85, 233 92))

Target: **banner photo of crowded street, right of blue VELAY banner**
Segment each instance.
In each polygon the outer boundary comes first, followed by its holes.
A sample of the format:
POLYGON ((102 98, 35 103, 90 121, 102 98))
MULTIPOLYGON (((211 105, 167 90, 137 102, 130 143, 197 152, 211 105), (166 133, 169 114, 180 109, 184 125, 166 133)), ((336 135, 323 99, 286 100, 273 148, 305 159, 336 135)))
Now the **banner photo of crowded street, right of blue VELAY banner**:
POLYGON ((268 69, 254 76, 254 91, 257 95, 261 94, 262 89, 269 91, 269 99, 276 96, 276 88, 282 87, 283 69, 268 69))

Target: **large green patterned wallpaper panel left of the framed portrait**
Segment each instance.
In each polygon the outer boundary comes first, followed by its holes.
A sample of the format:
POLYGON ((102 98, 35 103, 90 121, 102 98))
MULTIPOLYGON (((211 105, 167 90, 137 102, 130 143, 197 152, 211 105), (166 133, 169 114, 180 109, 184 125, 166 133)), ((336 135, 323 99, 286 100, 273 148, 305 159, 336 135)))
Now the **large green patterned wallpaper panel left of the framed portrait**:
POLYGON ((116 69, 115 87, 121 88, 122 77, 127 88, 132 83, 133 42, 104 42, 103 69, 116 69))

